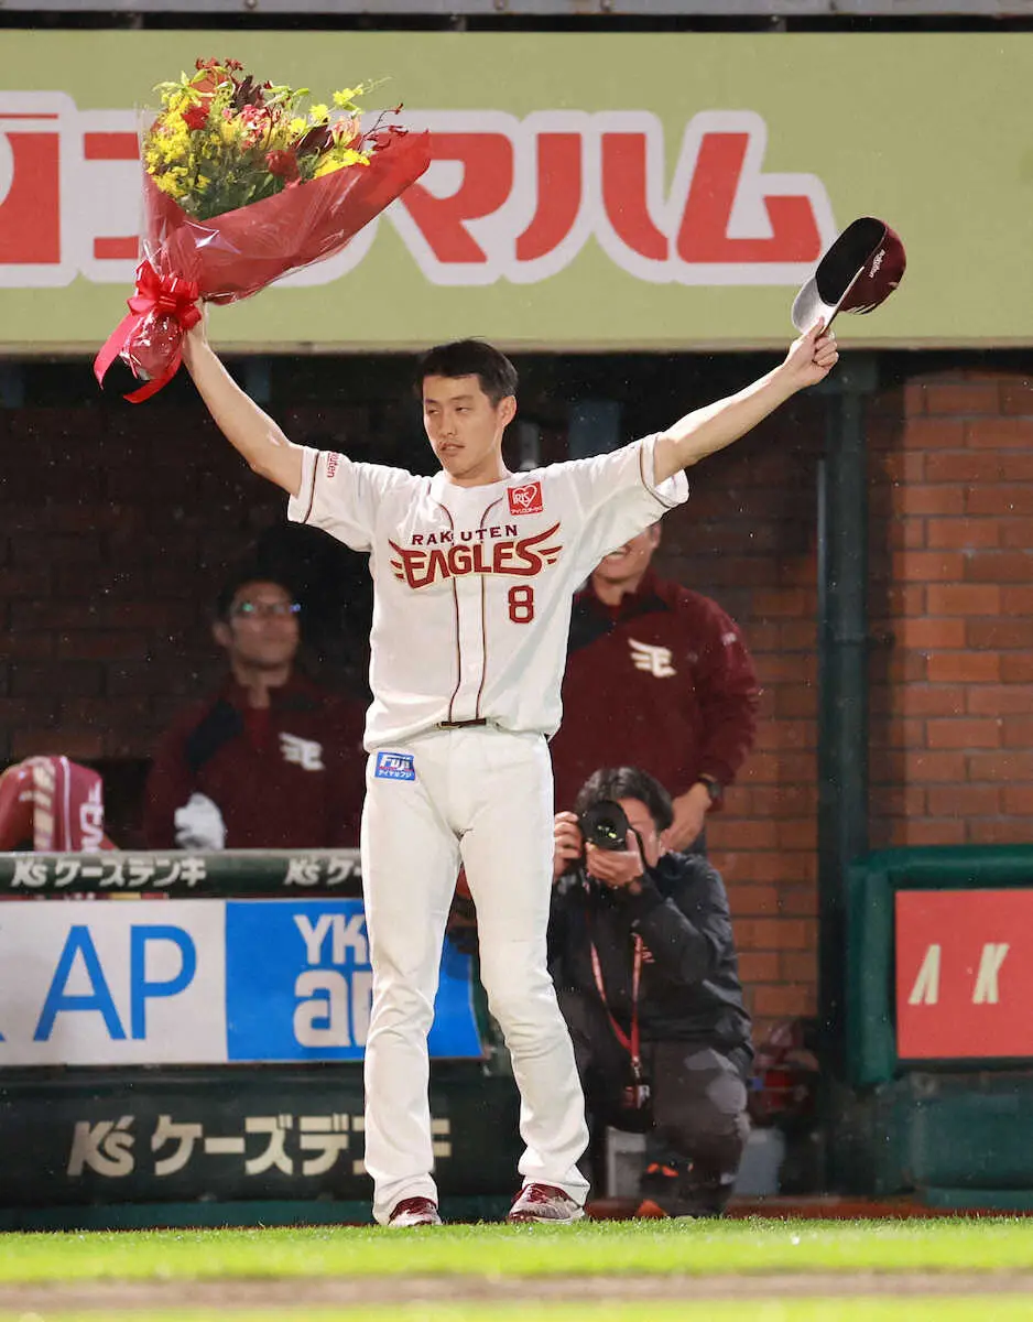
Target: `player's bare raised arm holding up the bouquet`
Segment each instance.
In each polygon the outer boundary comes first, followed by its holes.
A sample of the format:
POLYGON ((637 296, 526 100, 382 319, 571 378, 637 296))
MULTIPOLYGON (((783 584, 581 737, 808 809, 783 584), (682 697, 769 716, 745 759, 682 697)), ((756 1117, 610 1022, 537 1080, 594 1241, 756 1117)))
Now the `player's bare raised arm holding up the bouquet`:
POLYGON ((182 361, 219 431, 260 477, 291 494, 301 490, 301 448, 236 385, 207 342, 205 319, 188 330, 182 361))

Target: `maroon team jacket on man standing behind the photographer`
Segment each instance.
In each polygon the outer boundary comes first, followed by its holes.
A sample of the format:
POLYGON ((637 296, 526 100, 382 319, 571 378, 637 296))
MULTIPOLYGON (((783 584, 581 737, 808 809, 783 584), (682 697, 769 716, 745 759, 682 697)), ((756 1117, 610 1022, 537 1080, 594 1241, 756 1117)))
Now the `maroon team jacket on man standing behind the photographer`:
POLYGON ((618 607, 590 584, 573 600, 563 723, 552 740, 556 808, 600 767, 639 767, 684 793, 728 785, 753 746, 757 676, 736 623, 650 568, 618 607))

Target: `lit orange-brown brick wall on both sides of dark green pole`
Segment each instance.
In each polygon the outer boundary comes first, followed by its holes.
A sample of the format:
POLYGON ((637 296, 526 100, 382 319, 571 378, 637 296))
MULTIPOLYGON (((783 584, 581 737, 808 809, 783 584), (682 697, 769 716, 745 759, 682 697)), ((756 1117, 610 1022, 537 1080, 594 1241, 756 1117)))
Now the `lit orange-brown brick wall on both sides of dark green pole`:
MULTIPOLYGON (((1033 841, 1033 386, 911 374, 868 411, 873 847, 1033 841)), ((893 365, 890 365, 893 370, 893 365)), ((801 401, 699 469, 664 568, 742 625, 757 748, 712 854, 762 1034, 816 981, 816 459, 801 401)))

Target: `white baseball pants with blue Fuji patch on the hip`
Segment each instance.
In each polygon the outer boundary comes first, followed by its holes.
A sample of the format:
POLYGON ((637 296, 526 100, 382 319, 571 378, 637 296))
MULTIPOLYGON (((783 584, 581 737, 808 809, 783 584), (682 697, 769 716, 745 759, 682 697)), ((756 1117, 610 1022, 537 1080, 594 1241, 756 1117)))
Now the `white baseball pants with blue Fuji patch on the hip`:
MULTIPOLYGON (((573 1048, 546 968, 552 886, 552 768, 540 735, 435 730, 390 754, 413 779, 366 773, 362 876, 373 962, 366 1042, 366 1169, 374 1218, 432 1198, 427 1034, 460 861, 477 906, 481 978, 520 1091, 523 1182, 588 1182, 588 1126, 573 1048)), ((398 764, 395 764, 398 765, 398 764)))

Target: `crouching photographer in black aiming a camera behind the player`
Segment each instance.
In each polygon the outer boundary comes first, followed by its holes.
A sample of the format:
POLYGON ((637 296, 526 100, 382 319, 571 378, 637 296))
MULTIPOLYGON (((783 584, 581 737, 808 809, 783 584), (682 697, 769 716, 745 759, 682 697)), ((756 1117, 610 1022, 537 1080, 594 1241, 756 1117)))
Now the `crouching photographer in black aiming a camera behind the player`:
POLYGON ((720 1215, 753 1059, 724 884, 664 853, 671 798, 646 772, 597 771, 575 806, 555 818, 548 954, 589 1114, 647 1134, 643 1203, 720 1215))

